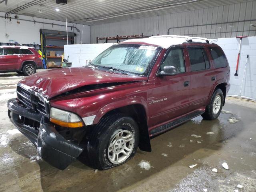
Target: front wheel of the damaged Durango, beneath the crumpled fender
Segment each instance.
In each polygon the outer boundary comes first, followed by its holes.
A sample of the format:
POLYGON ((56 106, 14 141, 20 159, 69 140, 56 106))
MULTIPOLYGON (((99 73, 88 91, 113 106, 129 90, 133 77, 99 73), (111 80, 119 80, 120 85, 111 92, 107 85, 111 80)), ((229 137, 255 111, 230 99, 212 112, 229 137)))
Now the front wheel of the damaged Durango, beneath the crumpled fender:
POLYGON ((132 118, 122 114, 106 116, 90 134, 90 164, 100 170, 124 164, 135 155, 138 144, 138 125, 132 118))

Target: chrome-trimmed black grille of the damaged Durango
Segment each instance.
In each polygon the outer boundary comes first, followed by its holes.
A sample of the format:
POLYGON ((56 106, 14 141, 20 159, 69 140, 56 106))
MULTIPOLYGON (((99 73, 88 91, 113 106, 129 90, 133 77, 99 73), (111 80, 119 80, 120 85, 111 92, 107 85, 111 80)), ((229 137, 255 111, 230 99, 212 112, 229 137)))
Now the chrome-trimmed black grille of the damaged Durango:
POLYGON ((17 96, 18 100, 26 105, 28 108, 34 109, 45 116, 48 115, 47 106, 44 102, 42 96, 38 95, 38 93, 34 92, 33 90, 28 91, 20 86, 17 86, 17 96), (39 98, 40 96, 40 98, 39 98))

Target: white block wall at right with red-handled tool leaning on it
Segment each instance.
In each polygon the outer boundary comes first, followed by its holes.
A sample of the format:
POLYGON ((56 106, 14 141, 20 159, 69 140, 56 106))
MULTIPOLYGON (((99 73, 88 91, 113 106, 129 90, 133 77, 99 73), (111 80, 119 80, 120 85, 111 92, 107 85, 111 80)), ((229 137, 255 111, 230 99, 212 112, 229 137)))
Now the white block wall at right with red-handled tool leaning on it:
POLYGON ((236 72, 236 60, 240 38, 219 38, 217 41, 214 41, 214 39, 212 39, 212 41, 224 50, 228 58, 231 72, 229 95, 239 95, 246 56, 247 54, 249 55, 241 96, 256 99, 256 37, 242 38, 238 76, 234 76, 234 74, 236 72))

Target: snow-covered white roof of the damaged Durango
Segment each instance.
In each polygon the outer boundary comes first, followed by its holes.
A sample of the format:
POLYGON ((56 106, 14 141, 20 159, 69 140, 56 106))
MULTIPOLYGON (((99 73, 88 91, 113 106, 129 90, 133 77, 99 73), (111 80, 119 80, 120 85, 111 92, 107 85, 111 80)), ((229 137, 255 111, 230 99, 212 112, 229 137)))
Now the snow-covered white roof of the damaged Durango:
MULTIPOLYGON (((123 42, 144 42, 148 44, 154 44, 160 46, 162 48, 169 48, 173 45, 182 44, 188 42, 188 40, 192 39, 192 42, 198 43, 206 43, 207 38, 201 37, 190 37, 190 36, 179 36, 179 35, 159 35, 159 36, 151 36, 149 38, 140 38, 140 39, 130 39, 123 42)), ((209 41, 210 44, 212 42, 209 41)))

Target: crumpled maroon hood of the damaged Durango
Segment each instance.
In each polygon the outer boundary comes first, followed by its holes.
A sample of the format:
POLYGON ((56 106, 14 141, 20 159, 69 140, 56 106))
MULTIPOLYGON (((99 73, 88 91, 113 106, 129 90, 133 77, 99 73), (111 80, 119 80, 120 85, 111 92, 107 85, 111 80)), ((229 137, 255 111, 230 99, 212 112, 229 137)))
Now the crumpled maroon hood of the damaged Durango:
POLYGON ((28 76, 22 79, 20 83, 30 86, 35 91, 40 90, 45 96, 52 98, 86 85, 135 82, 147 79, 147 77, 142 76, 130 76, 89 67, 79 67, 46 70, 28 76))

